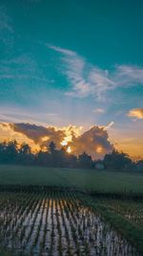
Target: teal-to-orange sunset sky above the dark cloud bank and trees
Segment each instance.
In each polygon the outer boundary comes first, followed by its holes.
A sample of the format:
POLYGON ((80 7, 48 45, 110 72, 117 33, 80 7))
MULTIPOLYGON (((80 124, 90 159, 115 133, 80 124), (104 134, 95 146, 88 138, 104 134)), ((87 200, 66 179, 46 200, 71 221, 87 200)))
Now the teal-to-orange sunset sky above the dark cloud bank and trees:
POLYGON ((104 127, 142 157, 142 10, 141 0, 1 0, 0 122, 104 127))

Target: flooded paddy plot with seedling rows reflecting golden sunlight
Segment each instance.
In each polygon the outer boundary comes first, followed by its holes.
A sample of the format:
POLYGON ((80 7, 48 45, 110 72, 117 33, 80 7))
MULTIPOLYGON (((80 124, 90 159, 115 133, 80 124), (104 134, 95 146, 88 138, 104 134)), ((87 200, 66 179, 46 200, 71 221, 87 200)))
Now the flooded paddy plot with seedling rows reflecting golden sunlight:
POLYGON ((1 192, 0 225, 0 247, 13 255, 139 255, 72 193, 1 192))

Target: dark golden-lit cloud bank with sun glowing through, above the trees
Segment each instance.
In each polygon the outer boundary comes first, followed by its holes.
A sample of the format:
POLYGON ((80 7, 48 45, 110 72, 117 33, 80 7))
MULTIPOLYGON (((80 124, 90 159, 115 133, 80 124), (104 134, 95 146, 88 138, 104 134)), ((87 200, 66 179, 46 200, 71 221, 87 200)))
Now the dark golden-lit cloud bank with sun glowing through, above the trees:
MULTIPOLYGON (((51 141, 53 141, 57 148, 60 149, 65 146, 72 149, 72 153, 78 155, 86 151, 92 158, 103 157, 107 152, 112 151, 113 145, 109 140, 108 131, 105 127, 93 126, 89 130, 82 132, 82 127, 69 126, 64 128, 43 127, 32 125, 30 123, 20 124, 1 124, 0 130, 5 129, 12 134, 12 139, 22 139, 22 135, 28 138, 29 143, 34 143, 36 146, 45 149, 51 141)), ((6 135, 6 134, 5 134, 6 135)), ((11 136, 10 136, 11 137, 11 136)))

